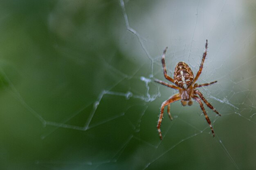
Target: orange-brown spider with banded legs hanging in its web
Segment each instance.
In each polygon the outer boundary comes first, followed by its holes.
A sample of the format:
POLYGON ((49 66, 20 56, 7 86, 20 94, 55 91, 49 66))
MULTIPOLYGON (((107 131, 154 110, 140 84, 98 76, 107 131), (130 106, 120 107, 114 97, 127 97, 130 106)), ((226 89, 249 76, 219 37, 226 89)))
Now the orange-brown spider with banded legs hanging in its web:
POLYGON ((196 88, 202 87, 202 86, 209 86, 211 84, 216 83, 217 81, 210 82, 210 83, 205 83, 205 84, 195 83, 197 81, 198 77, 200 76, 201 72, 202 72, 204 59, 207 55, 207 45, 208 45, 208 40, 206 40, 204 54, 203 54, 203 57, 202 57, 202 62, 200 64, 198 73, 196 74, 195 78, 194 78, 194 74, 193 74, 191 68, 189 68, 188 64, 186 64, 184 62, 179 62, 176 65, 175 70, 174 70, 173 79, 171 77, 169 77, 167 75, 165 61, 164 61, 167 47, 164 49, 164 53, 162 55, 162 65, 163 65, 163 69, 164 69, 164 77, 168 81, 175 84, 176 86, 174 86, 172 84, 168 84, 166 82, 162 82, 161 80, 158 80, 158 79, 155 79, 155 82, 157 82, 159 84, 162 84, 164 86, 170 87, 170 88, 174 88, 174 89, 178 90, 179 93, 173 95, 168 100, 164 101, 161 105, 160 115, 159 115, 159 119, 158 119, 158 123, 157 123, 157 130, 159 132, 159 137, 160 137, 161 140, 162 140, 162 133, 161 133, 161 130, 160 130, 160 125, 161 125, 162 118, 163 118, 164 107, 167 106, 167 113, 168 113, 170 119, 172 120, 173 118, 171 117, 171 114, 170 114, 170 104, 180 100, 182 106, 186 106, 187 102, 188 102, 188 105, 191 106, 193 104, 191 98, 195 99, 195 101, 198 102, 198 104, 200 105, 200 108, 202 109, 202 111, 204 113, 204 117, 205 117, 207 123, 209 124, 209 126, 211 128, 211 132, 212 132, 213 137, 214 137, 213 127, 212 127, 211 121, 210 121, 210 119, 209 119, 209 117, 208 117, 208 115, 207 115, 207 113, 204 109, 202 101, 209 108, 211 108, 211 110, 213 110, 215 113, 217 113, 219 116, 221 116, 221 115, 220 115, 220 113, 218 113, 217 110, 215 110, 213 108, 213 106, 209 102, 207 102, 207 100, 203 97, 202 93, 196 88), (202 99, 202 101, 197 95, 202 99))

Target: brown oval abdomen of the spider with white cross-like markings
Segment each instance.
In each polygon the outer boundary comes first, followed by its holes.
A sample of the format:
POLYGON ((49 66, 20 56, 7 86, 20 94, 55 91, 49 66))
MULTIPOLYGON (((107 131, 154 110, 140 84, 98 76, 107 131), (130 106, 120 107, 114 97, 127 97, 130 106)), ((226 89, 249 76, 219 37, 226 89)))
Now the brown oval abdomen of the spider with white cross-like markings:
POLYGON ((188 64, 179 62, 174 70, 174 83, 181 88, 188 88, 194 80, 194 74, 188 64))

